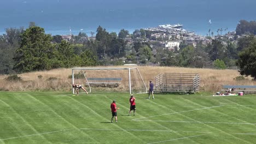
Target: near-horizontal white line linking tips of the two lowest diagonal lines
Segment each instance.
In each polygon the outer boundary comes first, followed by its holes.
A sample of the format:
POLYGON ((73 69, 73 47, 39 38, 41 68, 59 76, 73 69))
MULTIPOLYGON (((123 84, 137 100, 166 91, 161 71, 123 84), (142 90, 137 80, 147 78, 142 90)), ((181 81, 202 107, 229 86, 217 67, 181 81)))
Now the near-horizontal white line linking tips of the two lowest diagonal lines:
MULTIPOLYGON (((121 130, 124 131, 123 129, 92 129, 92 128, 80 128, 82 130, 121 130)), ((184 132, 184 133, 212 133, 208 131, 173 131, 173 130, 150 130, 150 129, 125 129, 126 131, 158 131, 158 132, 170 132, 170 133, 175 133, 175 132, 184 132)))

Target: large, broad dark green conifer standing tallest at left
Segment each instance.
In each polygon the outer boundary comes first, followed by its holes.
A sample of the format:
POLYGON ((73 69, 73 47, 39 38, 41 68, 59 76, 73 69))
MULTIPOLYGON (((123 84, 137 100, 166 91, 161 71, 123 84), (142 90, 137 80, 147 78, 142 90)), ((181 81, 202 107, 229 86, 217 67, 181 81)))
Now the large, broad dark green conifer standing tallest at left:
POLYGON ((41 27, 27 28, 21 34, 21 42, 16 53, 14 69, 18 72, 51 69, 50 55, 53 55, 51 35, 45 34, 41 27))

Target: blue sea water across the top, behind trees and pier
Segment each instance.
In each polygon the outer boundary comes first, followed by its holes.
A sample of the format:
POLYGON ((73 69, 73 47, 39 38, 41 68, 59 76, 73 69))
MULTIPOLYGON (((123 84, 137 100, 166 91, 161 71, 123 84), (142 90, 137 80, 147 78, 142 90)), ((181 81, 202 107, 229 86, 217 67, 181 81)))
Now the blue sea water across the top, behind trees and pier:
POLYGON ((256 20, 253 0, 1 0, 0 5, 0 34, 36 22, 52 35, 69 34, 70 29, 72 34, 96 34, 98 26, 132 33, 167 23, 206 35, 209 29, 231 32, 240 20, 256 20))

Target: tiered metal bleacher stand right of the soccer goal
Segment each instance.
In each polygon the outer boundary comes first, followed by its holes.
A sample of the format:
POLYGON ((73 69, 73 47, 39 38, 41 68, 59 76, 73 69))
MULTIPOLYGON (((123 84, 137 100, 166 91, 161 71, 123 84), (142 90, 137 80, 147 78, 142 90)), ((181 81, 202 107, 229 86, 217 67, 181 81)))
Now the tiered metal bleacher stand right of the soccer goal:
POLYGON ((155 76, 155 93, 192 93, 200 86, 197 73, 164 73, 155 76))

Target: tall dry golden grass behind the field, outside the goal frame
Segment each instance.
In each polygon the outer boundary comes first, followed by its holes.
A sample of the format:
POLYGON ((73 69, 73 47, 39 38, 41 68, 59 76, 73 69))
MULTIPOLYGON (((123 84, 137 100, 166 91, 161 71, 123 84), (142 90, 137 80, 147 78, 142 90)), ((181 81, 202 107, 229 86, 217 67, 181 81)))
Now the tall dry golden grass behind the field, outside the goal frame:
MULTIPOLYGON (((125 67, 125 66, 119 66, 125 67)), ((137 67, 148 86, 149 80, 154 81, 154 76, 160 73, 198 73, 201 78, 200 91, 216 92, 223 85, 256 85, 256 82, 247 77, 246 80, 237 81, 240 76, 237 70, 196 69, 179 67, 137 67)), ((97 72, 96 72, 97 73, 97 72)), ((54 69, 49 71, 35 71, 18 76, 22 81, 10 82, 5 80, 8 75, 0 75, 1 91, 71 91, 72 80, 68 76, 72 74, 71 69, 54 69), (42 78, 39 78, 42 76, 42 78), (50 77, 56 79, 49 80, 50 77)), ((113 75, 113 74, 110 74, 113 75)), ((108 88, 111 90, 111 88, 108 88)))

